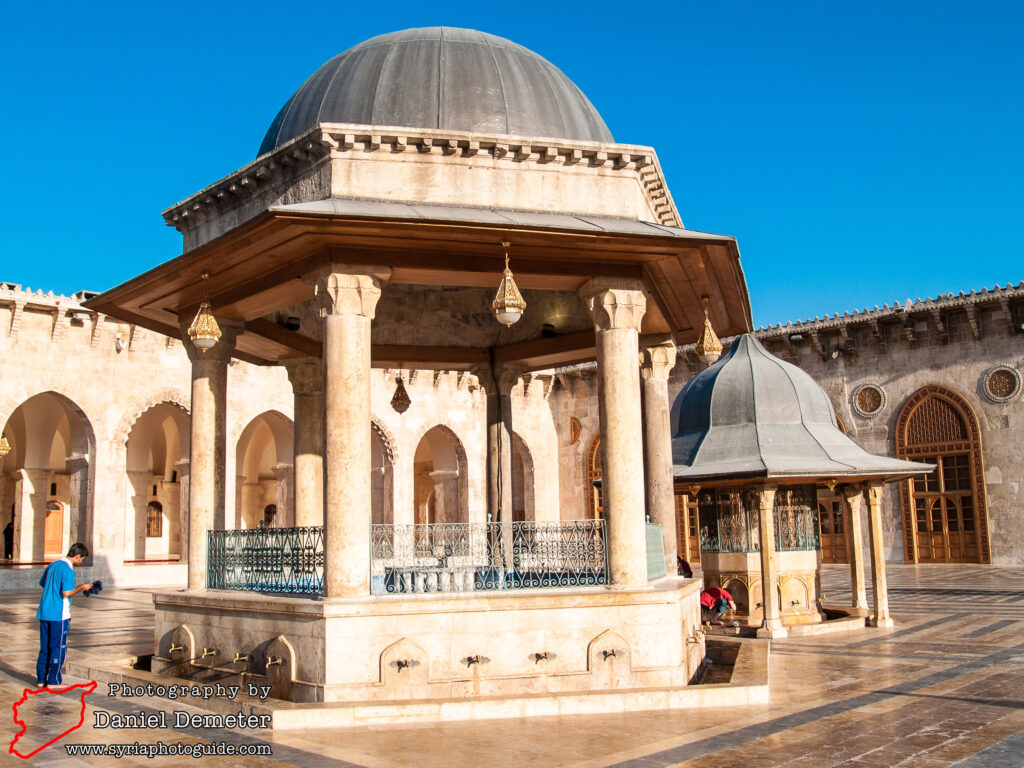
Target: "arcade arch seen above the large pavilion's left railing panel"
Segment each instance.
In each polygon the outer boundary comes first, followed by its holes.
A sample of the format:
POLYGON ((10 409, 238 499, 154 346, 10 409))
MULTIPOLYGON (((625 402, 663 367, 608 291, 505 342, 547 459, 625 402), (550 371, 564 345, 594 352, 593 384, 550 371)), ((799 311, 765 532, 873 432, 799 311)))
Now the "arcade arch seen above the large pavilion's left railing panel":
POLYGON ((292 420, 284 414, 266 411, 242 430, 236 450, 234 527, 294 524, 293 456, 292 420), (267 515, 271 506, 273 514, 267 515))

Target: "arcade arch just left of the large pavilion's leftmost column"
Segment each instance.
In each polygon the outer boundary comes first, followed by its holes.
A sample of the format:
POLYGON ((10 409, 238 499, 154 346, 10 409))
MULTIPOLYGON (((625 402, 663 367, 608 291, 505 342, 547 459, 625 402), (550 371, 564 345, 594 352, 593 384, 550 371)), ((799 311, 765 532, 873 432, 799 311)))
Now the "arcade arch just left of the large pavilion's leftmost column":
POLYGON ((125 561, 178 560, 187 509, 188 413, 177 403, 147 409, 125 443, 125 561))

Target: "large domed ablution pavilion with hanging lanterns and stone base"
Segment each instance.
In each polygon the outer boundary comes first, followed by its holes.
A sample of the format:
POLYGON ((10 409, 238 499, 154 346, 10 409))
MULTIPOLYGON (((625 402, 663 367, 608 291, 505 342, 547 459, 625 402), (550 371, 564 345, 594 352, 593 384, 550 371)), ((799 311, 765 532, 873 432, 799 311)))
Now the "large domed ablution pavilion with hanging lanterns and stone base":
POLYGON ((653 148, 613 141, 522 46, 406 30, 325 63, 253 162, 164 217, 181 255, 89 302, 191 358, 188 589, 154 597, 157 667, 265 678, 281 698, 350 703, 339 718, 504 717, 539 693, 561 714, 590 693, 636 708, 641 689, 681 706, 703 641, 699 582, 660 578, 668 375, 703 297, 724 334, 751 312, 735 241, 683 226, 653 148), (225 529, 236 358, 293 383, 294 527, 225 529), (603 517, 563 519, 552 490, 514 521, 512 388, 595 359, 603 517), (417 524, 397 480, 393 518, 371 516, 382 371, 396 413, 412 372, 485 397, 486 445, 430 474, 443 522, 417 524))

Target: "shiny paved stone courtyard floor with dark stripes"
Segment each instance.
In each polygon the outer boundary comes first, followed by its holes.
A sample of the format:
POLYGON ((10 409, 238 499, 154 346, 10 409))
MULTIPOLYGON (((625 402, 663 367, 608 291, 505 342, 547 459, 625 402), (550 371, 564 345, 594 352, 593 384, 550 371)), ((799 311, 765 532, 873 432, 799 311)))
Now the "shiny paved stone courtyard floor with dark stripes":
MULTIPOLYGON (((826 566, 828 602, 849 598, 849 571, 826 566)), ((189 711, 181 701, 108 695, 86 700, 85 724, 28 762, 0 751, 3 765, 111 765, 110 756, 71 756, 67 746, 210 744, 264 757, 124 756, 119 766, 571 766, 655 768, 1006 768, 1024 766, 1024 567, 889 568, 895 630, 775 641, 766 707, 513 719, 415 727, 270 733, 189 726, 105 728, 112 715, 189 711), (198 760, 198 762, 197 762, 198 760)), ((36 593, 6 593, 0 607, 0 737, 16 732, 12 702, 33 687, 38 649, 36 593)), ((104 591, 75 600, 70 660, 125 657, 151 649, 147 592, 104 591)), ((66 683, 87 682, 66 679, 66 683)), ((31 751, 77 719, 78 696, 30 696, 19 714, 31 751), (37 700, 38 699, 38 700, 37 700), (59 725, 58 725, 59 724, 59 725)), ((195 711, 198 712, 198 711, 195 711)))

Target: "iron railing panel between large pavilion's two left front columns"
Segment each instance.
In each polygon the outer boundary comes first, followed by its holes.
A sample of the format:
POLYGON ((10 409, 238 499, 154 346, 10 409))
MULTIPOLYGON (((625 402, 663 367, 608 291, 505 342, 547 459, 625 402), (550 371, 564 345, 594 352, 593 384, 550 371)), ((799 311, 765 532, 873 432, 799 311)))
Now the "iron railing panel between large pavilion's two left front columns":
POLYGON ((322 594, 324 528, 211 530, 209 589, 322 594))

